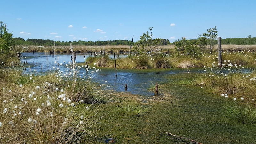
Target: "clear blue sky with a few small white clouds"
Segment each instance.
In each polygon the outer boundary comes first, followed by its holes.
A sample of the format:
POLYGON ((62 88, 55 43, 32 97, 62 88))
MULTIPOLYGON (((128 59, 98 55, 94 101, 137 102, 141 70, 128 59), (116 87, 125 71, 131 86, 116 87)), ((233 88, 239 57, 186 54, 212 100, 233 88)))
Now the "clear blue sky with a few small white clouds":
POLYGON ((138 41, 153 27, 153 38, 170 42, 216 26, 218 37, 256 37, 255 0, 6 0, 0 21, 13 37, 54 41, 138 41))

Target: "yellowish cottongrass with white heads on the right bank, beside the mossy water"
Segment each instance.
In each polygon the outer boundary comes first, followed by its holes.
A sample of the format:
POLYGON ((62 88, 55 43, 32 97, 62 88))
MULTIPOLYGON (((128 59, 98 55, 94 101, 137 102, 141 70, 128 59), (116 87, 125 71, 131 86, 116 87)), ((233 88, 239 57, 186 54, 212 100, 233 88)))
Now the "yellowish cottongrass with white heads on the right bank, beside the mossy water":
POLYGON ((221 95, 233 95, 235 99, 241 98, 248 103, 255 103, 256 75, 254 70, 232 64, 230 60, 224 60, 221 67, 216 62, 212 63, 212 67, 204 66, 204 72, 197 74, 190 84, 208 87, 221 95))

